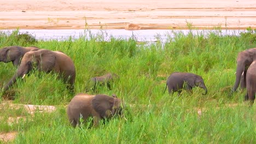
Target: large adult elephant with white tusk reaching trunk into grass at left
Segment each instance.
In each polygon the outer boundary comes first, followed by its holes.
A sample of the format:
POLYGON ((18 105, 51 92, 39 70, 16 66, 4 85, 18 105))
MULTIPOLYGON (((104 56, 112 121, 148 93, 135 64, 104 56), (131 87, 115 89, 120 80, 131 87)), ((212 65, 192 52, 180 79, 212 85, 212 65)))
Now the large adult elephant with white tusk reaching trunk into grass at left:
POLYGON ((7 91, 19 77, 22 76, 23 79, 32 69, 38 69, 46 73, 50 71, 59 73, 61 78, 67 83, 69 90, 74 91, 75 67, 72 59, 60 51, 41 49, 25 53, 16 74, 4 86, 3 92, 7 91))

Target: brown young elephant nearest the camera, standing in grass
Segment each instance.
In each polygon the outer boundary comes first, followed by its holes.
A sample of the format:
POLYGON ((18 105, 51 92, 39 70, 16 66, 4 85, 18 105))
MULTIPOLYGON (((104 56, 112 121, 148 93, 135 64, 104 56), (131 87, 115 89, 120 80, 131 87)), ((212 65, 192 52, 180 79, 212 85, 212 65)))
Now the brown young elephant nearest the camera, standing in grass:
POLYGON ((89 95, 79 93, 73 97, 67 106, 69 123, 76 127, 92 117, 94 127, 97 127, 101 119, 109 119, 122 113, 122 102, 116 95, 109 97, 105 94, 89 95))

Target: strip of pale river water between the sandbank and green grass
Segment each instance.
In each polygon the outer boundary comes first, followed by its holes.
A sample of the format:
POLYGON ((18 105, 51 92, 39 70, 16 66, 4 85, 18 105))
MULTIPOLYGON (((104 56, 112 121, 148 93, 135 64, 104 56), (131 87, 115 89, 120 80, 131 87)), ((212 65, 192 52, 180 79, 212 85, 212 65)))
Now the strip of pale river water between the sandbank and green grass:
MULTIPOLYGON (((2 30, 2 32, 10 33, 14 30, 2 30)), ((19 29, 20 33, 30 33, 40 40, 67 40, 70 37, 72 39, 78 39, 81 36, 84 36, 87 39, 90 39, 90 35, 94 35, 97 38, 103 38, 108 41, 111 37, 129 39, 135 38, 137 41, 145 42, 154 42, 156 40, 162 41, 164 43, 168 37, 173 37, 174 33, 182 32, 188 34, 190 31, 193 34, 203 34, 208 35, 210 32, 222 34, 222 35, 239 35, 240 32, 245 32, 243 30, 137 30, 137 31, 127 31, 125 29, 19 29)))

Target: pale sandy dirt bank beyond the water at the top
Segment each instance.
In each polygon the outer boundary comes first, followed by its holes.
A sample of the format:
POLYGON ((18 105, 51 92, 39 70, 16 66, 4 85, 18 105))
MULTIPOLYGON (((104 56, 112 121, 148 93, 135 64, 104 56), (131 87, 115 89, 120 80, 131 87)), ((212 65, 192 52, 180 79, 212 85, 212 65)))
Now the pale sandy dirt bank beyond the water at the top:
POLYGON ((9 0, 0 1, 0 29, 256 28, 252 0, 9 0))

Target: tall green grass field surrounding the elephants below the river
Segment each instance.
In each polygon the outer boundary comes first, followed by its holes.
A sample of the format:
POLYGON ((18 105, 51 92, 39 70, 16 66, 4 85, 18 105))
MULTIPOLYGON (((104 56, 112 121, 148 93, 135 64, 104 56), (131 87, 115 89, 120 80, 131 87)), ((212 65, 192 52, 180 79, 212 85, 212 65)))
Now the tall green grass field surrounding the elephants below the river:
MULTIPOLYGON (((24 109, 0 109, 0 133, 18 131, 10 143, 256 143, 255 104, 249 107, 243 101, 246 91, 240 89, 229 97, 237 53, 256 47, 256 32, 251 29, 239 36, 218 31, 208 35, 175 32, 164 46, 160 40, 137 45, 133 38, 104 41, 99 35, 91 35, 90 40, 81 36, 41 41, 18 31, 1 33, 0 41, 0 47, 33 45, 66 53, 77 71, 75 93, 85 91, 90 77, 118 74, 120 79, 112 90, 101 87, 98 93, 115 93, 127 105, 123 118, 97 128, 88 128, 88 124, 72 128, 66 105, 74 95, 56 75, 36 72, 18 80, 2 95, 2 101, 9 95, 15 98, 13 103, 55 105, 57 110, 31 116, 24 109), (174 71, 201 75, 208 94, 202 95, 201 88, 194 88, 192 95, 183 91, 181 97, 163 94, 167 77, 174 71), (9 117, 18 116, 26 118, 8 124, 9 117)), ((3 87, 16 68, 12 63, 0 63, 0 67, 3 87)))

